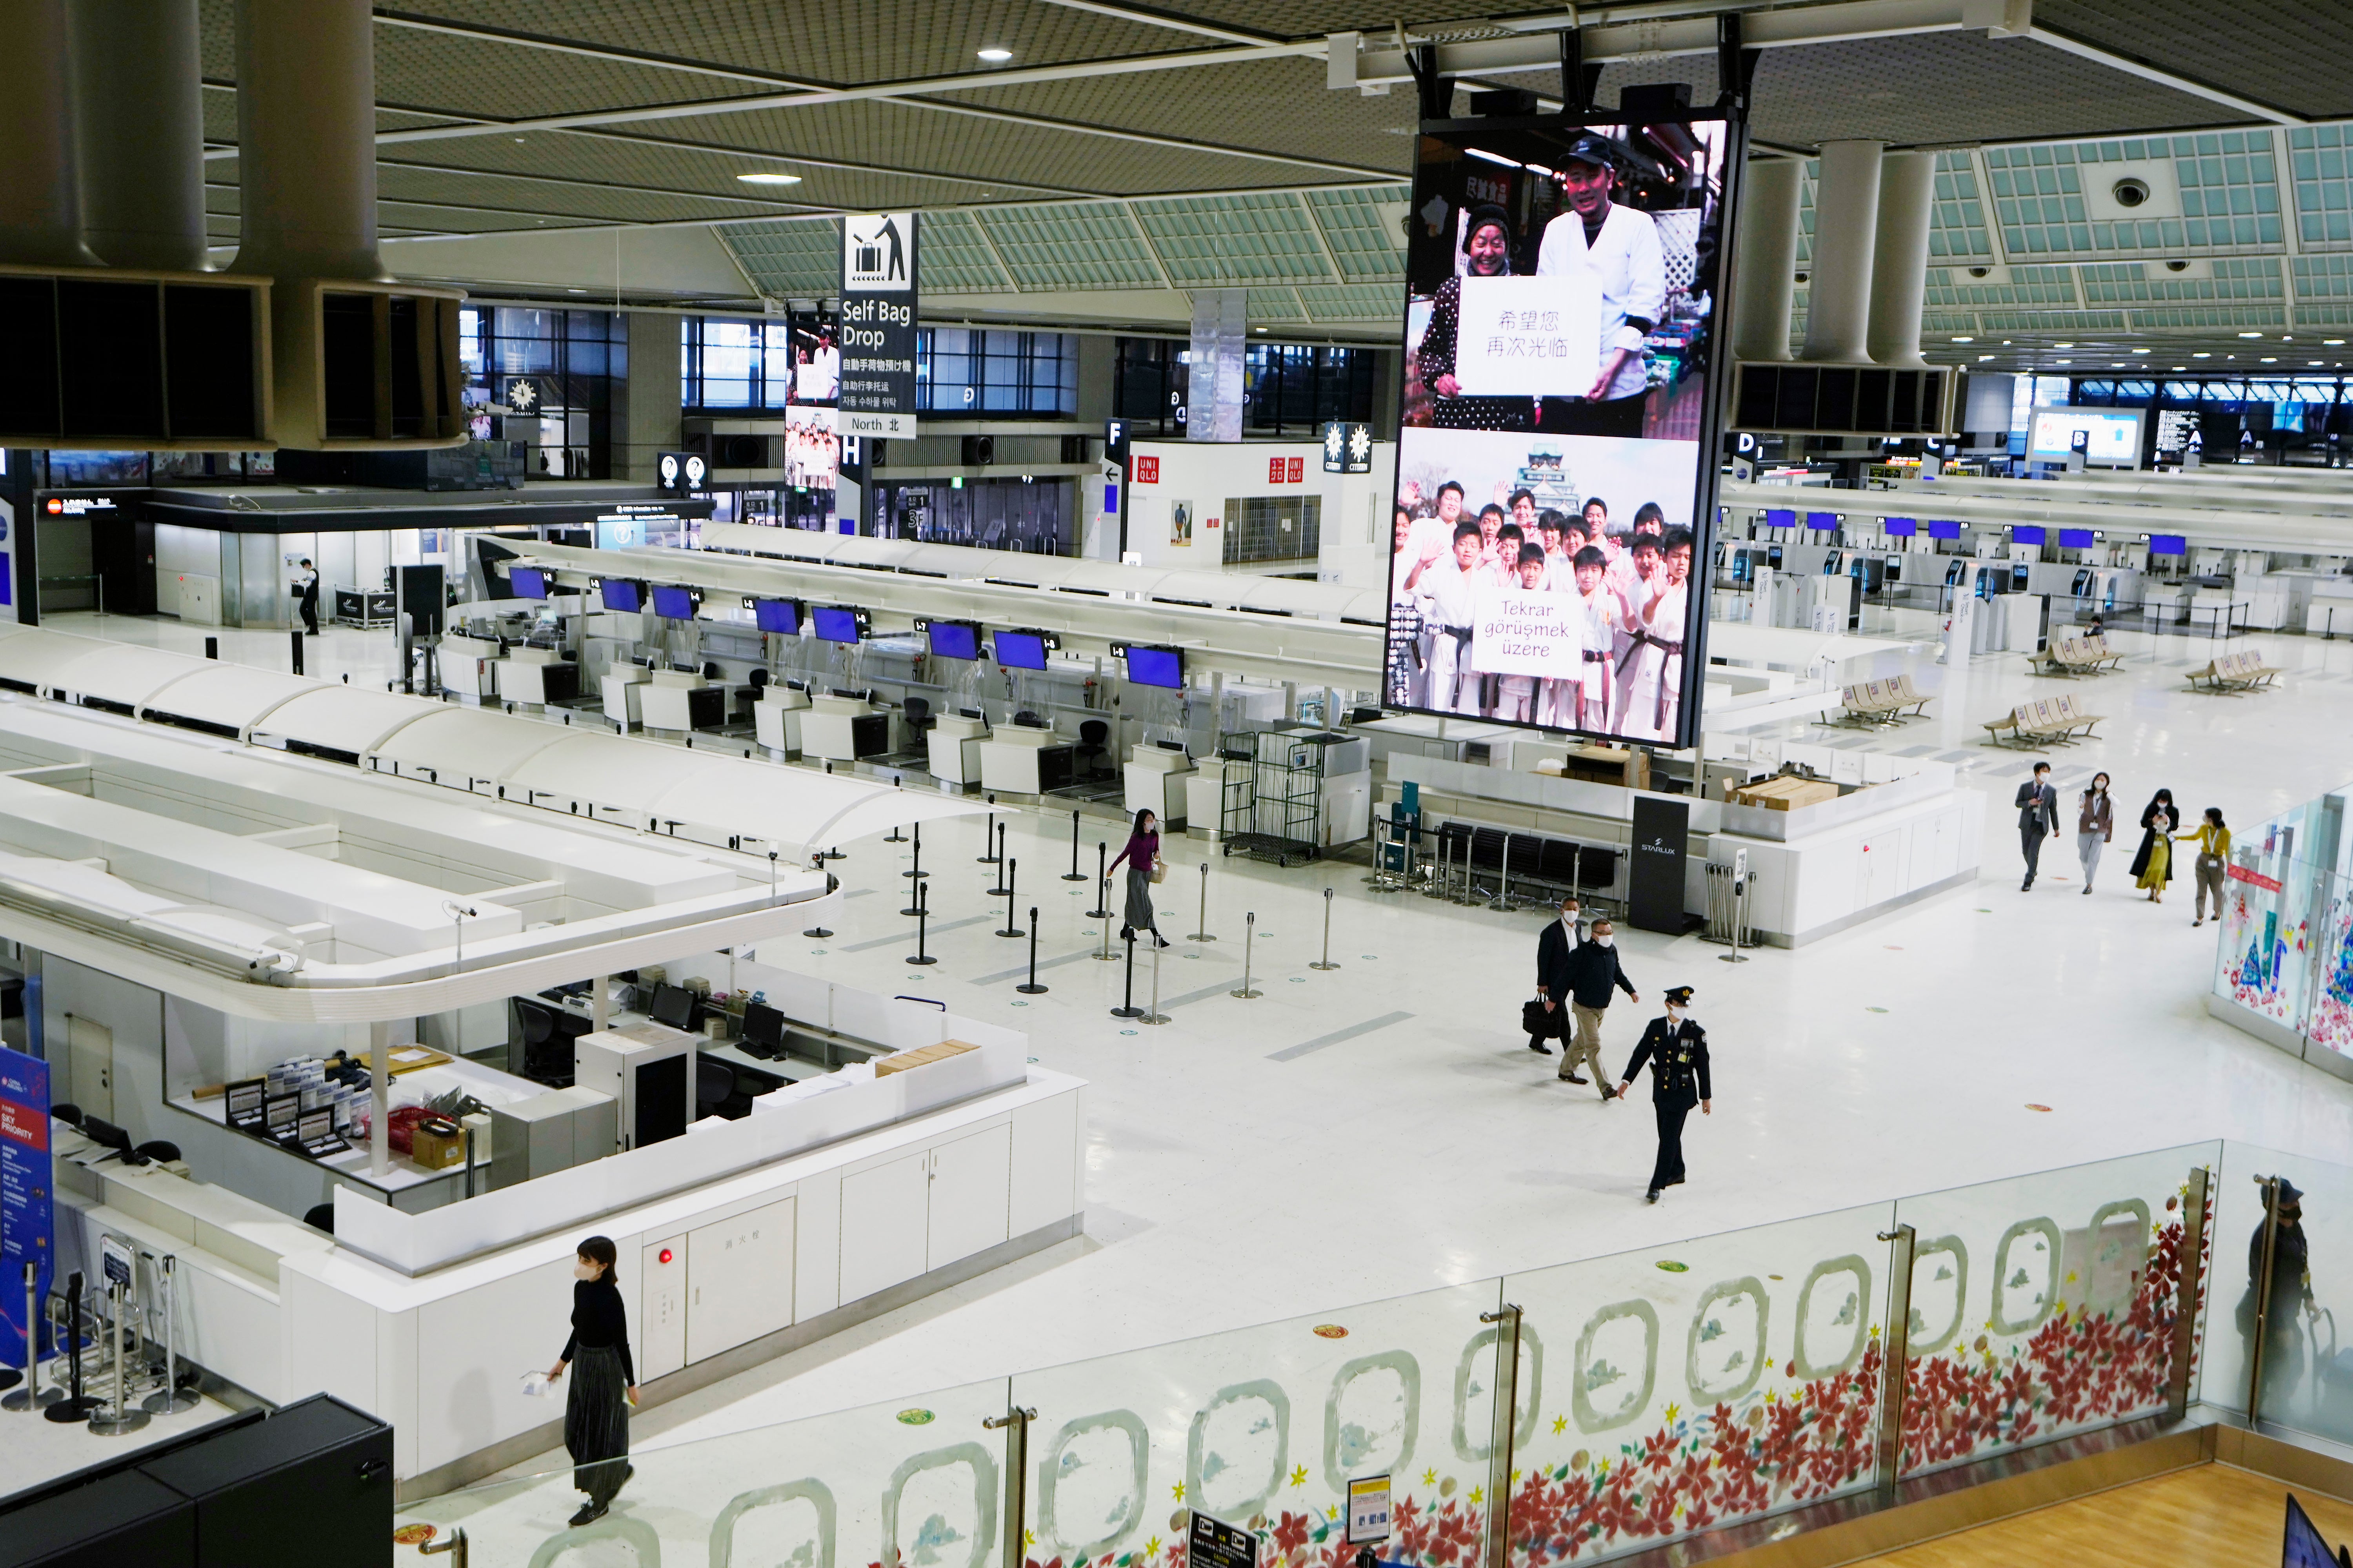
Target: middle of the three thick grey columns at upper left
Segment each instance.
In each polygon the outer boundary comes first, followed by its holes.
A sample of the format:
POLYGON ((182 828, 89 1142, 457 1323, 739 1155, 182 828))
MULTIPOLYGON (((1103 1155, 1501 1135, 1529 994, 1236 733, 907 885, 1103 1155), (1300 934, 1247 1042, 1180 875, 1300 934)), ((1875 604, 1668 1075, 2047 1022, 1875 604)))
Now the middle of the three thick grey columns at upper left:
POLYGON ((205 268, 195 0, 71 0, 82 240, 108 266, 205 268))

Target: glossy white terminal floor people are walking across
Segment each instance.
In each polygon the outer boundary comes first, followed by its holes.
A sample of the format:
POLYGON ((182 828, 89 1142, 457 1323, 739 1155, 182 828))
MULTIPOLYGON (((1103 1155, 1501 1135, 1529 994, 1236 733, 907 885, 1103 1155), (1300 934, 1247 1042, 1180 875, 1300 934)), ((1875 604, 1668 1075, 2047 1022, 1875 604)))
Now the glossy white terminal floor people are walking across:
MULTIPOLYGON (((1866 630, 1927 635, 1925 616, 1899 621, 1873 611, 1866 630)), ((165 646, 202 637, 122 618, 59 625, 165 646)), ((313 670, 388 670, 388 635, 315 642, 327 646, 313 670)), ((2106 769, 2125 823, 2169 785, 2188 813, 2217 804, 2252 825, 2353 773, 2353 644, 2242 639, 2289 670, 2282 691, 2247 698, 2184 689, 2209 644, 2139 632, 2111 644, 2125 672, 2068 686, 2111 717, 2099 741, 2052 755, 2064 795, 2106 769)), ((231 632, 224 656, 282 668, 285 637, 231 632)), ((1068 870, 1066 813, 1016 816, 1009 832, 1019 903, 1040 905, 1045 997, 1012 990, 1026 943, 993 936, 1002 900, 984 898, 979 825, 927 835, 941 957, 929 971, 904 961, 906 846, 845 844, 842 929, 769 957, 1028 1027, 1042 1063, 1087 1077, 1087 1234, 652 1410, 640 1448, 2195 1138, 2353 1150, 2353 1086, 2205 1016, 2212 933, 2191 929, 2186 884, 2162 907, 2129 891, 2137 835, 2122 823, 2097 896, 2080 896, 2073 837, 2019 893, 2007 802, 2026 762, 1979 745, 1979 722, 2057 682, 2028 677, 2019 656, 1969 670, 1922 658, 1920 670, 1922 686, 1941 684, 1929 722, 1857 745, 1937 748, 1967 764, 1965 778, 1993 795, 1981 882, 1739 966, 1697 938, 1621 936, 1645 1006, 1612 1009, 1612 1065, 1678 983, 1699 987, 1715 1058, 1715 1114, 1694 1117, 1687 1138, 1692 1180, 1657 1208, 1642 1204, 1647 1107, 1558 1084, 1553 1060, 1522 1046, 1541 914, 1374 896, 1358 865, 1275 870, 1174 844, 1162 924, 1193 929, 1207 856, 1221 940, 1162 954, 1172 1023, 1141 1027, 1108 1018, 1120 966, 1082 957, 1099 933, 1082 919, 1092 886, 1054 882, 1068 870), (1325 886, 1337 891, 1334 973, 1308 969, 1325 886), (1226 994, 1240 983, 1245 912, 1259 917, 1257 1001, 1226 994)), ((1826 733, 1838 731, 1814 731, 1826 733)), ((1089 823, 1089 870, 1096 837, 1089 823)), ((1148 990, 1148 969, 1136 980, 1148 990)))

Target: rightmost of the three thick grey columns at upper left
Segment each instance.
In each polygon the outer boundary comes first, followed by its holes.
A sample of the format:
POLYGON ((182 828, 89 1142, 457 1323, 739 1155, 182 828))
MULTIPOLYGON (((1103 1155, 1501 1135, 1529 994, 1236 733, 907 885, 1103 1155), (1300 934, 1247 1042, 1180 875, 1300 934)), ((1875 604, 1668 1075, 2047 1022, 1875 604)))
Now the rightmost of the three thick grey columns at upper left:
POLYGON ((238 273, 386 275, 374 42, 367 0, 238 0, 238 273))

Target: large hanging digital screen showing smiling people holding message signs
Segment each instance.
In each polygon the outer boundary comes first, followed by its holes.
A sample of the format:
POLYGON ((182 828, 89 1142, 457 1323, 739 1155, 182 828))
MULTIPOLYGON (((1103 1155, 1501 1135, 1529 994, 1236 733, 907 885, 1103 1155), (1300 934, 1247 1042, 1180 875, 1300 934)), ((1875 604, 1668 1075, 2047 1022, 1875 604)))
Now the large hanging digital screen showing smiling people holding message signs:
POLYGON ((1737 141, 1421 125, 1386 705, 1692 745, 1737 141))

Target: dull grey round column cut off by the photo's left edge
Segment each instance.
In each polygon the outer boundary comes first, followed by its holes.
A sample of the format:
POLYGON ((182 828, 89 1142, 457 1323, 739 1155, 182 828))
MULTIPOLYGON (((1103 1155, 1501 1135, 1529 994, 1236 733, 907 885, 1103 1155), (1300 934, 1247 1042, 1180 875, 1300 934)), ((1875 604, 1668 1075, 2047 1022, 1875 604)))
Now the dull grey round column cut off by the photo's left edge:
POLYGON ((66 0, 14 0, 0 14, 0 261, 96 266, 73 174, 66 0))

